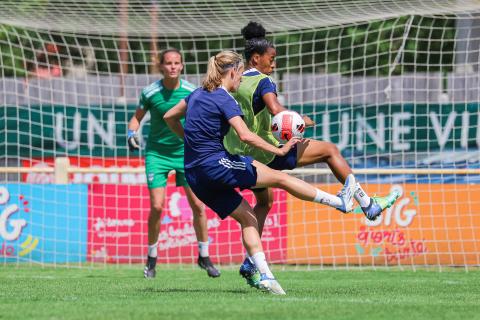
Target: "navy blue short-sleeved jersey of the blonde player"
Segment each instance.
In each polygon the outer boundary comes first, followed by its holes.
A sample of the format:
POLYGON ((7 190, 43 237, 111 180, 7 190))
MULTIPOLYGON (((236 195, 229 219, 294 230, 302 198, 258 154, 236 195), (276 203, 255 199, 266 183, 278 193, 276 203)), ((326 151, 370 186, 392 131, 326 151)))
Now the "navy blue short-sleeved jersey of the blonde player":
POLYGON ((228 120, 243 116, 237 101, 224 88, 198 88, 185 101, 185 168, 227 156, 223 137, 230 129, 228 120))

